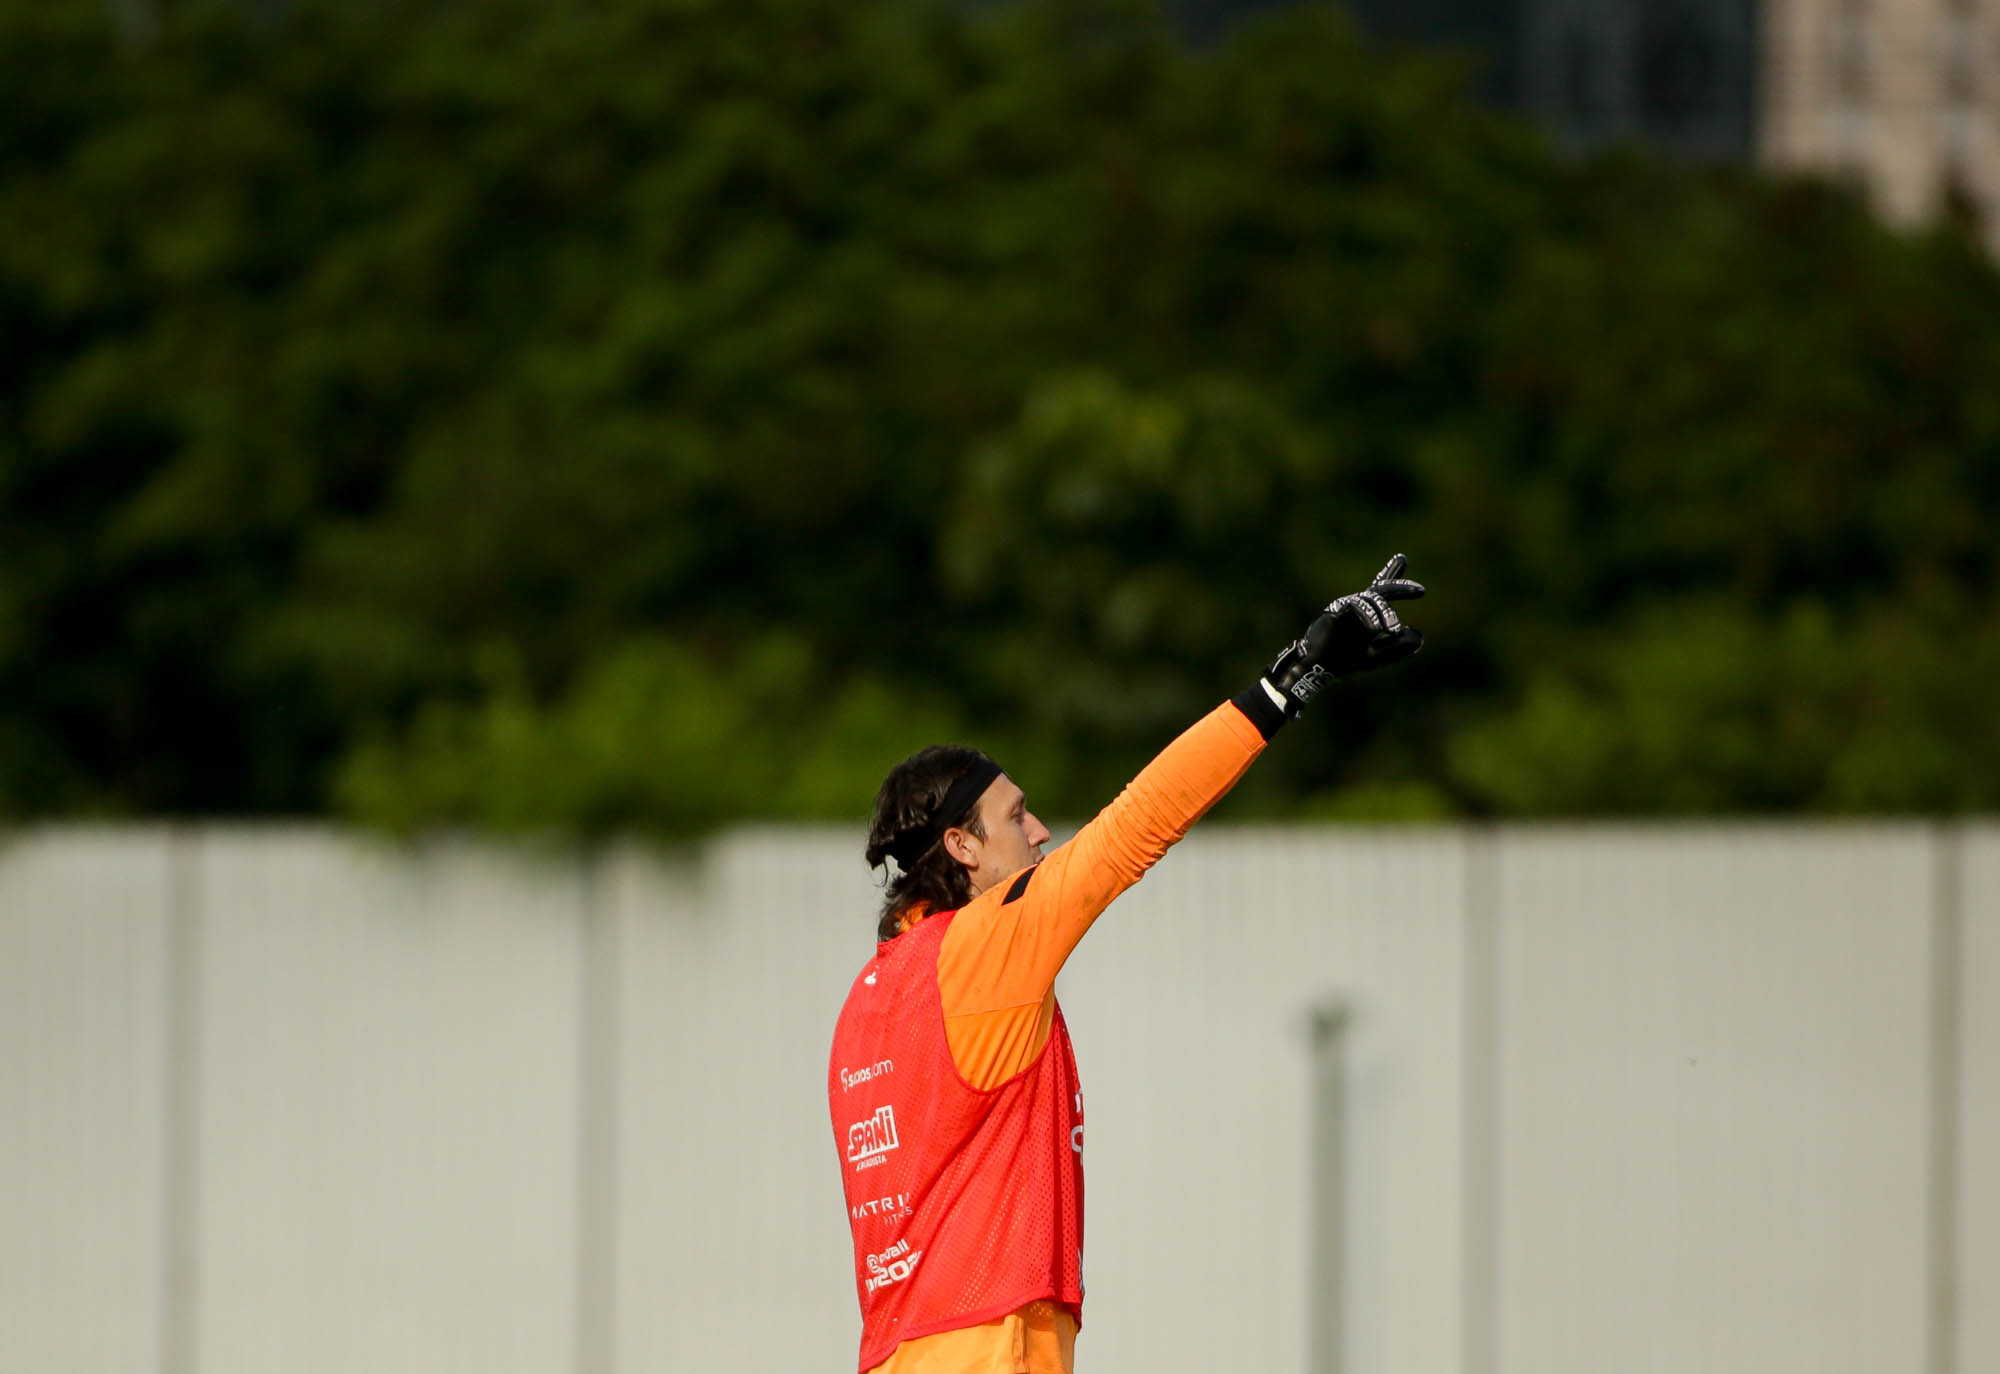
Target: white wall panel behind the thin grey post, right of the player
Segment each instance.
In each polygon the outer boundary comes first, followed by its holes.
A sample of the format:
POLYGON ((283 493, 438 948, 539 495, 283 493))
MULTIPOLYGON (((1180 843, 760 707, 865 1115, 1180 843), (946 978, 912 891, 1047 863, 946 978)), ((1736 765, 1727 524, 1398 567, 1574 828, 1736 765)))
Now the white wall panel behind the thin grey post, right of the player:
POLYGON ((1190 836, 1058 994, 1088 1100, 1078 1360, 1304 1370, 1310 1014, 1346 1034, 1348 1370, 1458 1352, 1456 832, 1190 836))

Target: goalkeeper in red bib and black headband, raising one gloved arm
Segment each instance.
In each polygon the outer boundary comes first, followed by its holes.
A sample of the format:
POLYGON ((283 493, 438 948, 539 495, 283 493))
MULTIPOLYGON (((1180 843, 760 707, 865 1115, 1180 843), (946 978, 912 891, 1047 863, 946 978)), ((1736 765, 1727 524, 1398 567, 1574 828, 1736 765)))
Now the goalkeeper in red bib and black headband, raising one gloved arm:
POLYGON ((890 770, 866 858, 896 868, 826 1074, 862 1370, 1070 1374, 1084 1096, 1056 972, 1328 682, 1422 648, 1390 604, 1424 594, 1402 572, 1396 554, 1326 606, 1048 858, 1048 828, 986 754, 932 746, 890 770))

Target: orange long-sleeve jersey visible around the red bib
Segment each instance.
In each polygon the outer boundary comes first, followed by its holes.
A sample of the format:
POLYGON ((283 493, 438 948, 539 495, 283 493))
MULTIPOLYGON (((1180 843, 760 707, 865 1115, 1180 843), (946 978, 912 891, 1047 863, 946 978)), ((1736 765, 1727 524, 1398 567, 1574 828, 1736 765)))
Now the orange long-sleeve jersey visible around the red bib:
MULTIPOLYGON (((996 1088, 1048 1044, 1056 974, 1112 898, 1138 882, 1264 750, 1264 734, 1222 704, 1168 744, 1044 858, 1016 900, 1014 882, 966 902, 938 950, 938 994, 952 1062, 974 1088, 996 1088)), ((922 920, 906 914, 904 928, 922 920)), ((994 1322, 896 1346, 870 1374, 1070 1374, 1074 1318, 1030 1302, 994 1322)))

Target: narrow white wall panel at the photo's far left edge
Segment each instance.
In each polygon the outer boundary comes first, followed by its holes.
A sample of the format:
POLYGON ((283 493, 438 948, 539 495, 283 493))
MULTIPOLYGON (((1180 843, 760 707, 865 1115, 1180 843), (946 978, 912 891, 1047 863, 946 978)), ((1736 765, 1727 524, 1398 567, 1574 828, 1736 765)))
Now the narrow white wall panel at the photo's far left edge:
POLYGON ((0 848, 0 1370, 148 1370, 166 1164, 164 832, 0 848))

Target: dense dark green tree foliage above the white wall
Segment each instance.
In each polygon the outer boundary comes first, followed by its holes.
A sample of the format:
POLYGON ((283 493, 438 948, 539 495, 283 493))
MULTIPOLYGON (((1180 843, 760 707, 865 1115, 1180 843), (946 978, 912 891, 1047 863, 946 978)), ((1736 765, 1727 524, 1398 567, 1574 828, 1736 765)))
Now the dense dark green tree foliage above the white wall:
POLYGON ((2000 802, 1994 270, 1328 6, 0 0, 0 812, 1086 814, 1398 548, 1240 814, 2000 802))

